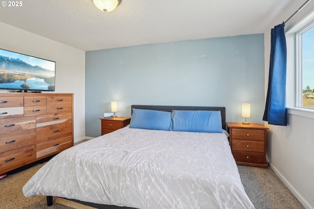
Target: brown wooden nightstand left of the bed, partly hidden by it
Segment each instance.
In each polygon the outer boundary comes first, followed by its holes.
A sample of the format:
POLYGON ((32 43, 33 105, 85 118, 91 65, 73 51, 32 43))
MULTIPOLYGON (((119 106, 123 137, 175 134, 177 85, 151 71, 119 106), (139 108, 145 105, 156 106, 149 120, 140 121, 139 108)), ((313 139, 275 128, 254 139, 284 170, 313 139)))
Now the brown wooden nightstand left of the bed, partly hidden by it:
POLYGON ((102 135, 116 131, 130 124, 131 118, 100 118, 102 120, 102 135))

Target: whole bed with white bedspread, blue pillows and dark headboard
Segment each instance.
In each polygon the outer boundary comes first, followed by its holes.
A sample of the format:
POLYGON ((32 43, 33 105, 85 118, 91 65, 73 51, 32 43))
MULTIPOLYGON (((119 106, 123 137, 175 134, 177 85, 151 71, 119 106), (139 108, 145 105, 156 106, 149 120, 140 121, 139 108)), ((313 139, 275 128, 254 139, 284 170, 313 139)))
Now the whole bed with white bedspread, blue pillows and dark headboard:
POLYGON ((94 208, 254 209, 229 146, 225 107, 131 105, 131 111, 129 126, 53 157, 24 195, 94 208))

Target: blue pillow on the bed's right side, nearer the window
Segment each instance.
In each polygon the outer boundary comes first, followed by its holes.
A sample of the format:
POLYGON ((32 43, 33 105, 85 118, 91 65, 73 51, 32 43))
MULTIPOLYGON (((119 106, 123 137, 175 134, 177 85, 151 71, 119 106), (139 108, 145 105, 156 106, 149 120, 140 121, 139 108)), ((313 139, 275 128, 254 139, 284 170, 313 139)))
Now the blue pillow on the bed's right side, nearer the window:
POLYGON ((220 111, 173 110, 172 131, 222 133, 220 111))

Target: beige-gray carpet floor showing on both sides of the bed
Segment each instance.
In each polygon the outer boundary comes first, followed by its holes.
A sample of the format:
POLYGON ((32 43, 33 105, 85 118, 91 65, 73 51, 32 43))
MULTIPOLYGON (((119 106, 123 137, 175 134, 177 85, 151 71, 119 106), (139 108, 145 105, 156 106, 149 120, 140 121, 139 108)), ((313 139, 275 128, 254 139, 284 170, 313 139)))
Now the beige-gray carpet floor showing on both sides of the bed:
MULTIPOLYGON (((24 184, 42 166, 38 164, 0 180, 0 209, 71 209, 56 203, 48 207, 45 196, 24 197, 24 184)), ((256 209, 304 209, 271 169, 238 165, 238 170, 256 209)))

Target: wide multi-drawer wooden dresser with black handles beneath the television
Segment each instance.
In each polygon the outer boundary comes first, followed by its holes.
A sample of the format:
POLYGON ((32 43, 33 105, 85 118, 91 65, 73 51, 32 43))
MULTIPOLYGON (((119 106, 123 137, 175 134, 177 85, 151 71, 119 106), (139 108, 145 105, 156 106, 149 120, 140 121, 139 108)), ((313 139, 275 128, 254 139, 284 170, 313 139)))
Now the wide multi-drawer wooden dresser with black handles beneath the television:
POLYGON ((0 93, 0 174, 73 142, 73 94, 0 93))

